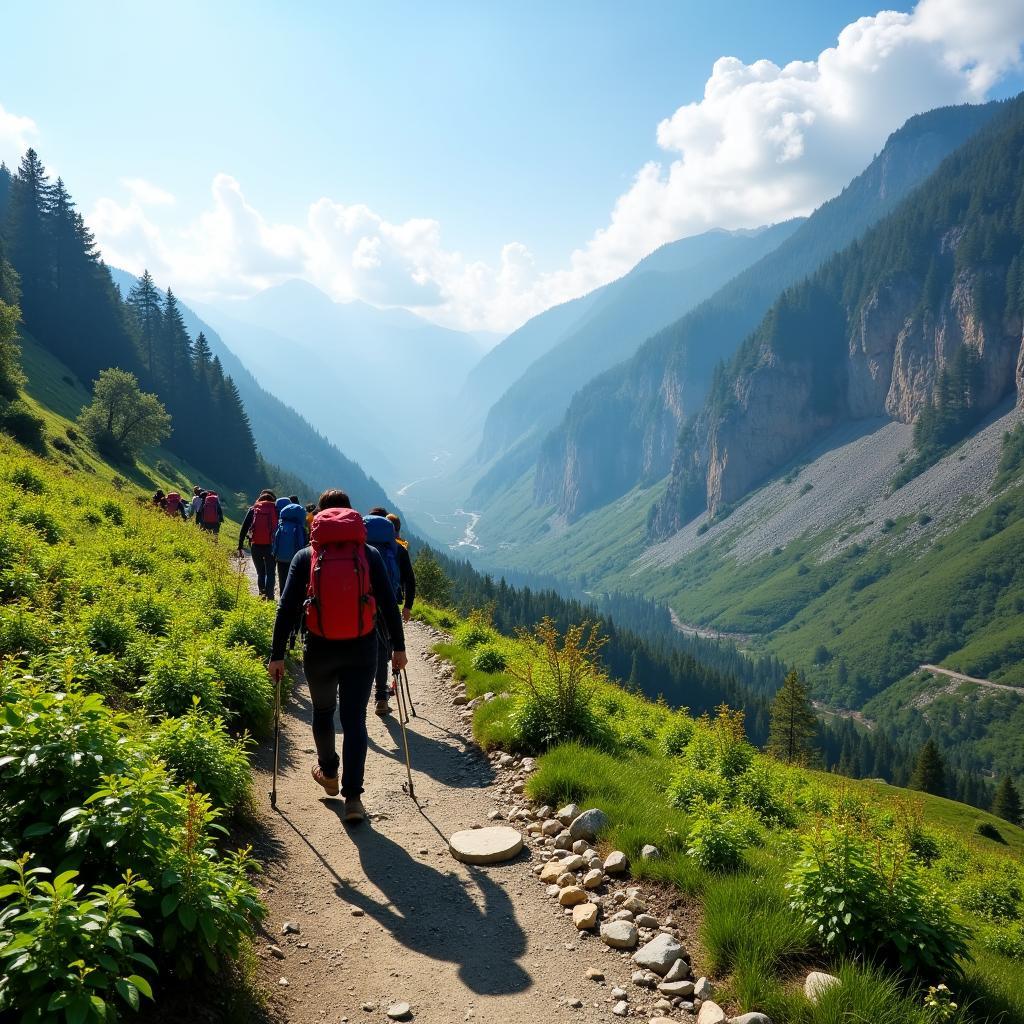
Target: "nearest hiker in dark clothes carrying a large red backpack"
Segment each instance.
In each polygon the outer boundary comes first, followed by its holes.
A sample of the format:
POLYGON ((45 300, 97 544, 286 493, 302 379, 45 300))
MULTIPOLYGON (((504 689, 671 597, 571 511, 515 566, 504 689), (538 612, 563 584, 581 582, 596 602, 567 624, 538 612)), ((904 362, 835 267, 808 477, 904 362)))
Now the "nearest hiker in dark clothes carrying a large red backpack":
POLYGON ((337 707, 343 735, 340 790, 345 798, 344 816, 356 822, 367 816, 359 798, 367 761, 367 706, 377 670, 376 623, 387 624, 395 672, 408 664, 406 638, 384 561, 366 543, 366 524, 348 495, 325 490, 317 508, 310 546, 292 559, 281 595, 267 672, 275 683, 284 677, 288 637, 302 612, 302 669, 313 706, 316 745, 312 777, 329 797, 338 795, 337 707))

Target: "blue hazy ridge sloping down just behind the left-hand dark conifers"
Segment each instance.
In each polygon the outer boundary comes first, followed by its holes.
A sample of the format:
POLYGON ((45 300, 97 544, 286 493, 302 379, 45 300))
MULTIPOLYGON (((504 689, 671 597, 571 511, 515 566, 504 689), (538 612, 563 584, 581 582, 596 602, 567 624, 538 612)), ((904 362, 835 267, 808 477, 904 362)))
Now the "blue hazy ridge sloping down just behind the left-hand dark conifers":
MULTIPOLYGON (((125 295, 138 281, 134 274, 116 267, 111 268, 111 275, 125 295)), ((180 303, 179 308, 188 334, 194 338, 201 332, 205 334, 211 350, 233 379, 245 403, 253 436, 267 460, 305 481, 314 492, 343 487, 357 508, 393 507, 375 479, 318 434, 294 409, 262 388, 217 331, 184 303, 180 303)))

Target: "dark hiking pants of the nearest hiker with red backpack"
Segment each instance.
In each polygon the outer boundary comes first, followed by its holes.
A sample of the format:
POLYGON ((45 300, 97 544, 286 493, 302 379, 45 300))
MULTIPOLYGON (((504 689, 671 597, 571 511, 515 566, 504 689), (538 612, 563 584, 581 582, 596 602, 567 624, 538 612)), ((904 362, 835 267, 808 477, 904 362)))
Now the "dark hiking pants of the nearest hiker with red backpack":
POLYGON ((334 710, 341 720, 341 795, 358 797, 367 764, 367 706, 376 645, 359 641, 306 643, 302 669, 313 706, 313 743, 325 775, 338 774, 334 710), (360 659, 361 656, 361 659, 360 659))

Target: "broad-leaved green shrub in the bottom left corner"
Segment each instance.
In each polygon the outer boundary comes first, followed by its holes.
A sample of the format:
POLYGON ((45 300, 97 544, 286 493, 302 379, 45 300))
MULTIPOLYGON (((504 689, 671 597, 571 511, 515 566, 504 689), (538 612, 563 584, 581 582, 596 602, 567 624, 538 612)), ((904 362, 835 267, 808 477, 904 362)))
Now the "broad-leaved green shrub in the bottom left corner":
POLYGON ((0 871, 14 876, 0 886, 0 1012, 22 1021, 106 1022, 117 1019, 118 1001, 138 1010, 140 995, 152 999, 139 972, 157 968, 137 947, 153 938, 134 907, 147 883, 129 871, 83 896, 77 871, 48 882, 49 870, 29 862, 28 855, 0 861, 0 871))

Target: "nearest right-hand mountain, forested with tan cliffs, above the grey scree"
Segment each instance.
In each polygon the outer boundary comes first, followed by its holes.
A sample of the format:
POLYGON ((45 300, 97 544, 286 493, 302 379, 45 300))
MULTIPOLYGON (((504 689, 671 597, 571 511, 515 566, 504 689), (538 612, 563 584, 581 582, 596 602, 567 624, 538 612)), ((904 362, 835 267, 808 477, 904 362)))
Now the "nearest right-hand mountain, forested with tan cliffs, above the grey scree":
POLYGON ((683 432, 651 521, 714 516, 843 423, 916 421, 927 468, 1024 381, 1024 97, 786 291, 683 432))

